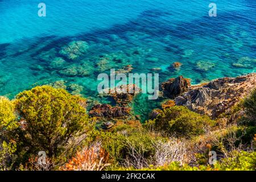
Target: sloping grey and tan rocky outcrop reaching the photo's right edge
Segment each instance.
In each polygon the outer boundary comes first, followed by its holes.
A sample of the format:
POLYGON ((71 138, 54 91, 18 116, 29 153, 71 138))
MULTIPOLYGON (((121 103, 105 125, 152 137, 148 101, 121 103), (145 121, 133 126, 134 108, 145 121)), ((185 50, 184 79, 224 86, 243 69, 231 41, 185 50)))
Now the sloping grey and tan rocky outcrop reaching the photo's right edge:
POLYGON ((219 78, 208 84, 191 86, 189 91, 175 98, 176 105, 217 118, 226 113, 256 86, 256 73, 236 78, 219 78))

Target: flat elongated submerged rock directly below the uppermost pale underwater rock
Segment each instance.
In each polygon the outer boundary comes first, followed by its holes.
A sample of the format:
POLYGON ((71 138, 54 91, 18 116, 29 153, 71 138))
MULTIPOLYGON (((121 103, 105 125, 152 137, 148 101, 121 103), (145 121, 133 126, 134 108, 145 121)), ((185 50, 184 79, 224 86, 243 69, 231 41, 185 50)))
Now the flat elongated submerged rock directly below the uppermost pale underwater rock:
POLYGON ((71 76, 71 77, 73 76, 86 77, 86 76, 90 76, 92 72, 93 72, 93 69, 88 67, 87 64, 82 64, 82 65, 72 64, 58 71, 60 75, 71 76))

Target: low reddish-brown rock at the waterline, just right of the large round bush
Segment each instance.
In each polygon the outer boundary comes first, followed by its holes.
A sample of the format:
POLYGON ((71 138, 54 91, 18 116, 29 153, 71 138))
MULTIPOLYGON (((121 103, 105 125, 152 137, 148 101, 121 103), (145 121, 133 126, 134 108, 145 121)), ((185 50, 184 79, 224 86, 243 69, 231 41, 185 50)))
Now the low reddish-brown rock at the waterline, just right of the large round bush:
POLYGON ((112 107, 108 104, 98 104, 89 111, 90 117, 126 118, 130 115, 129 107, 112 107))

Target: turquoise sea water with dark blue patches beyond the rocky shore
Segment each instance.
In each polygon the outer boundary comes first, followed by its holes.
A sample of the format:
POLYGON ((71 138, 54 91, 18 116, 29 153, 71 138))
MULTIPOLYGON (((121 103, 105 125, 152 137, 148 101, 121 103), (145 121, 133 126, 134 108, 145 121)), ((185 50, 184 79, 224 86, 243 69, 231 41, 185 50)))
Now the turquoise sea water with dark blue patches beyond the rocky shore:
MULTIPOLYGON (((97 75, 133 65, 134 73, 161 68, 160 81, 183 75, 193 84, 256 70, 256 1, 0 0, 0 95, 64 80, 78 84, 85 97, 97 98, 97 75), (88 49, 75 59, 60 50, 72 41, 88 49), (105 69, 100 61, 107 59, 105 69), (61 65, 53 65, 61 60, 61 65), (64 60, 64 61, 63 61, 64 60), (180 70, 169 68, 179 61, 180 70), (78 69, 88 75, 77 73, 78 69), (64 70, 64 72, 63 72, 64 70), (75 71, 67 73, 68 71, 75 71), (65 72, 66 71, 66 72, 65 72)), ((138 96, 135 113, 158 106, 138 96)))

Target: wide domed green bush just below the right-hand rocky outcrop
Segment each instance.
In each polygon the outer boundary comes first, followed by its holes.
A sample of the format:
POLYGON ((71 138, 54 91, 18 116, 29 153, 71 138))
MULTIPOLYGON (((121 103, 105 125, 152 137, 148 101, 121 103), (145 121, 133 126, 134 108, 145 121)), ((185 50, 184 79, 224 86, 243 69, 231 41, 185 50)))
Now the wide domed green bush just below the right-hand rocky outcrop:
POLYGON ((153 121, 146 122, 146 127, 180 137, 192 137, 204 134, 214 123, 207 115, 197 114, 184 106, 174 106, 163 110, 153 121))

